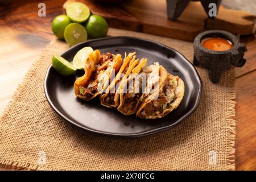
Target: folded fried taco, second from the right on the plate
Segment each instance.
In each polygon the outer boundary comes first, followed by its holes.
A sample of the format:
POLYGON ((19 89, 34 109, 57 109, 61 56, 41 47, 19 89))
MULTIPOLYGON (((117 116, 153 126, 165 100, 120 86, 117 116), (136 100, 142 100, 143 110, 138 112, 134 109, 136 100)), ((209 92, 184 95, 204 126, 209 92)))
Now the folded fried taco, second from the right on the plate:
POLYGON ((136 113, 138 105, 144 98, 156 92, 157 87, 163 85, 167 77, 166 69, 159 63, 145 67, 146 63, 147 59, 141 60, 141 64, 134 68, 133 75, 122 82, 118 92, 119 97, 115 98, 116 100, 119 98, 120 104, 117 109, 124 115, 136 113), (143 84, 145 83, 143 80, 146 84, 143 84))

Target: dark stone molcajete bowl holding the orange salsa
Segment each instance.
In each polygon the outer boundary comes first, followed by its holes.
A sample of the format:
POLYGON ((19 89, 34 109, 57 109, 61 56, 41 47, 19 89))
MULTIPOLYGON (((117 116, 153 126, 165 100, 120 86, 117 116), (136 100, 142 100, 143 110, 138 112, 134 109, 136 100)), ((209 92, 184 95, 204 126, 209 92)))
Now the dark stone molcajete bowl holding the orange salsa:
POLYGON ((238 42, 235 35, 221 30, 205 31, 197 35, 194 40, 194 65, 201 65, 209 69, 209 77, 213 83, 220 81, 221 73, 225 69, 242 67, 246 60, 243 55, 247 51, 245 44, 238 42), (213 51, 202 45, 205 38, 223 38, 232 43, 233 48, 228 51, 213 51))

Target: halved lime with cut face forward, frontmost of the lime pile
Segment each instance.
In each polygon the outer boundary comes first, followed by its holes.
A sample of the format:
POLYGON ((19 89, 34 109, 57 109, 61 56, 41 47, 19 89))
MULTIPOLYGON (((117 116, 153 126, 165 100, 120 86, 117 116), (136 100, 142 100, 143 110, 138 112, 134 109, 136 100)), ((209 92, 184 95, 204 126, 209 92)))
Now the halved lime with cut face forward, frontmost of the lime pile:
POLYGON ((87 32, 81 24, 71 23, 65 28, 64 38, 70 46, 74 46, 87 40, 87 32))

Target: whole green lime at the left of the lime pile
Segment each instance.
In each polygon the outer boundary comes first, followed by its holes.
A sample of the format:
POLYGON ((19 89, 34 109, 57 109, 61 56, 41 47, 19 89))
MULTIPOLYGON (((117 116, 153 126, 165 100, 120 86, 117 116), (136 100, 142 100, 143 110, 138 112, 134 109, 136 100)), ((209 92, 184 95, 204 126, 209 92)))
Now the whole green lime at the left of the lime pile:
POLYGON ((64 39, 65 28, 71 23, 67 15, 56 16, 52 20, 52 32, 59 39, 64 39))

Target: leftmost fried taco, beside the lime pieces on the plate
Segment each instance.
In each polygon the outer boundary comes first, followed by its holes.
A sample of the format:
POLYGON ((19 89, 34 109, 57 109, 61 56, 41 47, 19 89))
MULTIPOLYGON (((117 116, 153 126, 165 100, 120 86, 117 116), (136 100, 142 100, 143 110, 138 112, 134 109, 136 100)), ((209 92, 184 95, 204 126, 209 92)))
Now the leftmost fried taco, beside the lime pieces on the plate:
POLYGON ((85 61, 85 74, 75 81, 74 88, 77 97, 89 101, 104 92, 112 72, 121 67, 122 56, 109 52, 101 55, 100 51, 95 50, 85 61))

